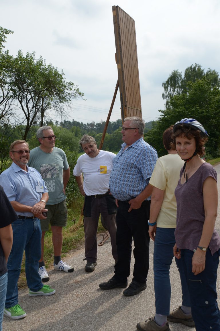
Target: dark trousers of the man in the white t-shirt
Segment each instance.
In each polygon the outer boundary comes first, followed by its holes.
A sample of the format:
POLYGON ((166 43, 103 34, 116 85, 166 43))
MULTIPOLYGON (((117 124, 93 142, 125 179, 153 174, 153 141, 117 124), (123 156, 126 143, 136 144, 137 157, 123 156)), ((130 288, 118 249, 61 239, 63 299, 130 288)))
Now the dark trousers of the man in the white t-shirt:
POLYGON ((112 256, 114 260, 117 260, 115 213, 115 199, 111 195, 102 198, 85 196, 83 208, 85 260, 89 262, 97 260, 97 228, 100 214, 110 234, 112 256))

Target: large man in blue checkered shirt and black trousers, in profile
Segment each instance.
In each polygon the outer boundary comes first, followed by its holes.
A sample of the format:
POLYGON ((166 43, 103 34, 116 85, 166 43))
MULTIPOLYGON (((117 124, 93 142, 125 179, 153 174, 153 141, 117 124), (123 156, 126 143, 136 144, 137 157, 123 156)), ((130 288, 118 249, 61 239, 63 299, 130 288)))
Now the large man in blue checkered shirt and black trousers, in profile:
POLYGON ((133 280, 123 292, 133 296, 146 289, 149 269, 148 224, 152 187, 149 180, 157 161, 156 150, 143 140, 144 121, 124 118, 120 152, 113 159, 109 187, 116 199, 116 244, 118 261, 114 276, 99 284, 103 290, 127 287, 134 240, 133 280))

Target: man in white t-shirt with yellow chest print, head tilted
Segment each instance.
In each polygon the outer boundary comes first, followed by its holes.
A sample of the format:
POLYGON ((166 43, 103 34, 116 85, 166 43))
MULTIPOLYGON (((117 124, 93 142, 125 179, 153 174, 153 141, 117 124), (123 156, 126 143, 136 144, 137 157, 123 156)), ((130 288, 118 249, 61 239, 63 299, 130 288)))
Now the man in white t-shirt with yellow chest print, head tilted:
POLYGON ((109 191, 109 178, 114 153, 99 150, 95 139, 84 135, 80 146, 85 154, 81 155, 74 167, 80 193, 85 197, 83 223, 85 232, 85 271, 94 271, 97 264, 97 228, 99 216, 110 233, 112 256, 117 261, 116 249, 116 204, 109 191), (82 177, 83 174, 83 177, 82 177))

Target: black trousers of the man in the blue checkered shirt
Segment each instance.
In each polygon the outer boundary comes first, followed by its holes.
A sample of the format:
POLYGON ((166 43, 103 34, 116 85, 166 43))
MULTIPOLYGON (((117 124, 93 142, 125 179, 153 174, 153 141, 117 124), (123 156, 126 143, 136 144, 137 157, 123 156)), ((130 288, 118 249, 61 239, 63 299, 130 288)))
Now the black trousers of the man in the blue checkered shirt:
POLYGON ((149 269, 149 242, 148 224, 150 201, 144 201, 141 208, 132 209, 128 201, 118 201, 116 213, 116 245, 118 262, 115 264, 115 276, 121 282, 126 282, 130 275, 132 238, 134 240, 135 265, 133 280, 144 283, 149 269))

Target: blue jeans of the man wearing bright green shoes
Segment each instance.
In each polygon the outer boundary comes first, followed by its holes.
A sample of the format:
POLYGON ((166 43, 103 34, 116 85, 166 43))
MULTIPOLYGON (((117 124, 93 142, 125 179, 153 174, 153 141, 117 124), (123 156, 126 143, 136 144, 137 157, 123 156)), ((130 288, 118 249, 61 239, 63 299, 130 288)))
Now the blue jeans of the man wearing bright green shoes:
POLYGON ((27 285, 37 292, 42 287, 38 261, 41 258, 41 224, 39 218, 16 219, 12 223, 13 245, 8 259, 8 287, 5 307, 18 304, 17 282, 21 271, 21 262, 25 251, 25 273, 27 285))

